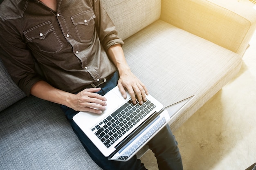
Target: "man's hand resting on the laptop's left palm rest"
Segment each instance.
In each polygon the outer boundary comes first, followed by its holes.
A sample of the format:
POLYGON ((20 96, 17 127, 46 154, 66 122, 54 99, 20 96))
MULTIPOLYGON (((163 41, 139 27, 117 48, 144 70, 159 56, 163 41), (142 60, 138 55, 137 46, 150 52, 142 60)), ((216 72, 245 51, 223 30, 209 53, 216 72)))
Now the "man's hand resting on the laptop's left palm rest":
POLYGON ((86 88, 85 90, 67 97, 67 102, 70 108, 76 111, 87 111, 101 114, 107 106, 107 99, 95 92, 100 91, 101 88, 86 88))

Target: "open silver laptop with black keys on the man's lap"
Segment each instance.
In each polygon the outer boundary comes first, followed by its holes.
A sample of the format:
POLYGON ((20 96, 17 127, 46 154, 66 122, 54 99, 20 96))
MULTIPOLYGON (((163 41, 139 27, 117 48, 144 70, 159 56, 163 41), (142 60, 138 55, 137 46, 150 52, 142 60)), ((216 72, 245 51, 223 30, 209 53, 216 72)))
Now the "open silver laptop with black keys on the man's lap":
POLYGON ((128 161, 193 98, 164 108, 147 95, 144 104, 133 104, 130 95, 124 99, 117 86, 104 97, 107 106, 101 114, 79 112, 73 120, 105 157, 116 161, 128 161))

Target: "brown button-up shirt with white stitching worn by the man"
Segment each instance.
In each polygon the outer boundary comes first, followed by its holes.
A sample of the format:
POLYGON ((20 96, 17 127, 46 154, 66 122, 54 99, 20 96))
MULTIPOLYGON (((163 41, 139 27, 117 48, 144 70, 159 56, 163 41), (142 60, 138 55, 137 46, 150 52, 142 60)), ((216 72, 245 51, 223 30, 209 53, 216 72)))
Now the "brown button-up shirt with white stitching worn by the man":
POLYGON ((38 0, 6 0, 0 19, 1 59, 27 95, 41 79, 74 93, 116 71, 106 50, 123 41, 99 0, 57 0, 56 12, 38 0))

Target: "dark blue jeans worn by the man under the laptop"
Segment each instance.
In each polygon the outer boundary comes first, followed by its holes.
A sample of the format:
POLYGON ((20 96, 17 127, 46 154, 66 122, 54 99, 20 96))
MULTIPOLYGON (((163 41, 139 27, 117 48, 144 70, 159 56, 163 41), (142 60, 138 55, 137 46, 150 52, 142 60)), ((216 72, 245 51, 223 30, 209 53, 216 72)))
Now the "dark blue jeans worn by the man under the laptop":
MULTIPOLYGON (((106 83, 102 84, 100 95, 106 94, 112 88, 117 86, 119 79, 118 73, 114 73, 113 77, 106 83)), ((111 161, 104 157, 101 152, 94 146, 94 144, 88 139, 83 131, 76 125, 72 117, 78 112, 68 108, 67 106, 61 106, 65 115, 70 122, 74 132, 79 137, 85 150, 90 157, 104 170, 145 170, 144 164, 137 159, 136 155, 129 161, 111 161)), ((180 156, 179 148, 177 147, 177 141, 173 136, 170 127, 165 126, 153 139, 148 142, 149 148, 155 153, 159 170, 183 170, 182 159, 180 156)))

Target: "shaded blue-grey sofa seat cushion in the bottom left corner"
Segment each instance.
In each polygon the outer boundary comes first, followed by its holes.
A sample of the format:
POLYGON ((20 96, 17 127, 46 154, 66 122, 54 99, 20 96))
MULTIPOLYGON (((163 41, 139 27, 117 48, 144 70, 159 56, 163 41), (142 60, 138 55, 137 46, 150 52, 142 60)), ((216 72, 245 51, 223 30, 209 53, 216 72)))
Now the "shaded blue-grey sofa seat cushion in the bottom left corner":
POLYGON ((58 104, 25 97, 0 113, 0 169, 100 170, 58 104))

